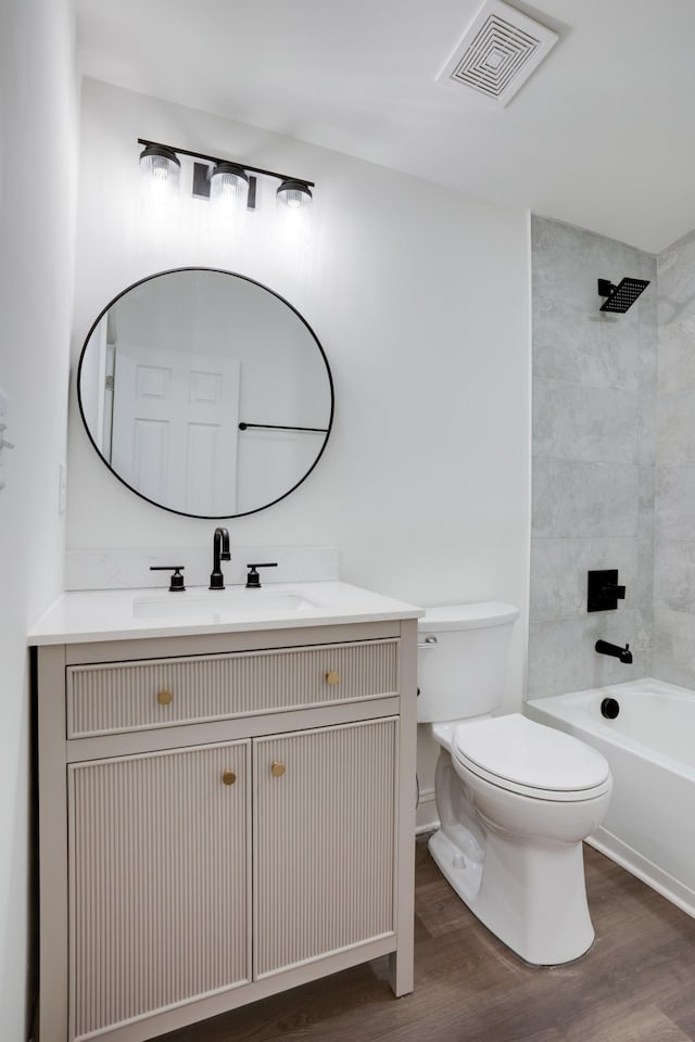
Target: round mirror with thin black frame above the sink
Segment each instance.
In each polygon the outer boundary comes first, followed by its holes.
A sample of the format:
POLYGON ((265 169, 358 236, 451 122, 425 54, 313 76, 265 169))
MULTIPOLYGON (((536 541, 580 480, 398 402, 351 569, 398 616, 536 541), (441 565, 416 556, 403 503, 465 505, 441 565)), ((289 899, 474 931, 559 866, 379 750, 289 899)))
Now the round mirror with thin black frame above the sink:
POLYGON ((178 268, 119 293, 91 327, 77 394, 102 460, 150 503, 232 518, 314 469, 333 382, 314 331, 241 275, 178 268))

